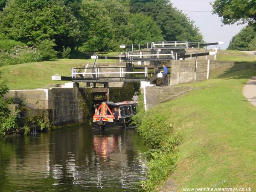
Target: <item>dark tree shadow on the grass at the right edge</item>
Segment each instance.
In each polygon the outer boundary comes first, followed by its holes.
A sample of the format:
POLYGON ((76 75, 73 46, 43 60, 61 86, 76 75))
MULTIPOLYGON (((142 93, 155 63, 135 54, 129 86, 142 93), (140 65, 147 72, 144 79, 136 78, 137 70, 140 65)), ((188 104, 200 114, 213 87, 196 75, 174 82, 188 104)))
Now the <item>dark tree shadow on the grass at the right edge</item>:
POLYGON ((253 72, 256 74, 256 61, 234 62, 234 65, 224 71, 216 79, 248 79, 253 72))

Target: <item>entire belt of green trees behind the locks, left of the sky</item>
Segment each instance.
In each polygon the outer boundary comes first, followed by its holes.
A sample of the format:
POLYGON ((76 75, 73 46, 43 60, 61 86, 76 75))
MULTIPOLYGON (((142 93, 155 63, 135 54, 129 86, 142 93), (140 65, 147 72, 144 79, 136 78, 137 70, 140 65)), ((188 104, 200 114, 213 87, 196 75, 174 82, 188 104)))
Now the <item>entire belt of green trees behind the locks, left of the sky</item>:
POLYGON ((74 52, 164 39, 201 41, 202 35, 167 0, 9 0, 0 12, 3 39, 28 46, 49 40, 58 52, 63 46, 74 52))

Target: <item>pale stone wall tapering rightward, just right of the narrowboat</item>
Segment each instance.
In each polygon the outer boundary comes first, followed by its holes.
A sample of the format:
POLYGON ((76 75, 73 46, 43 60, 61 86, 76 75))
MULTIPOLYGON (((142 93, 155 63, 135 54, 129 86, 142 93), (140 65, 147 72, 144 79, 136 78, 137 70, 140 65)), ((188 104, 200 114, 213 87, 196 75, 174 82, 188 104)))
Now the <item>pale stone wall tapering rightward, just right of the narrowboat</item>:
POLYGON ((192 87, 144 87, 141 88, 144 94, 145 110, 155 105, 175 99, 192 90, 192 87))

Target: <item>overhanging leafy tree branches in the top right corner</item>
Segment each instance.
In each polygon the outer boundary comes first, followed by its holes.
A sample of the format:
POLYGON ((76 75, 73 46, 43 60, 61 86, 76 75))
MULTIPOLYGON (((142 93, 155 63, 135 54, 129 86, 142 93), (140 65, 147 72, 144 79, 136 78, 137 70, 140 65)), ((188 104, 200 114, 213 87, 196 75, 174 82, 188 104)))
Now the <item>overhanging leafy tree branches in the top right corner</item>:
POLYGON ((256 23, 255 0, 215 0, 213 13, 222 17, 223 24, 256 23))

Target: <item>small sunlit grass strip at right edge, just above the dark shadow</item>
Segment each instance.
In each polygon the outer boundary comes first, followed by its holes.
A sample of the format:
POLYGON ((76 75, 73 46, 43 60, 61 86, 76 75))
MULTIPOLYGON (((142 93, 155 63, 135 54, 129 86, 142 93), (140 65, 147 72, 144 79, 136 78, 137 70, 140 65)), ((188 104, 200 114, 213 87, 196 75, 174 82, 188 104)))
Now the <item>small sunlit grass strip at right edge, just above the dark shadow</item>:
POLYGON ((241 51, 234 50, 220 50, 217 52, 217 60, 219 61, 256 61, 254 55, 250 55, 241 51))

